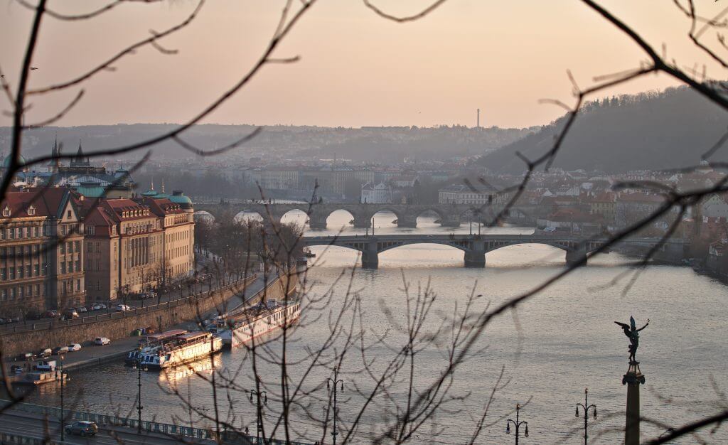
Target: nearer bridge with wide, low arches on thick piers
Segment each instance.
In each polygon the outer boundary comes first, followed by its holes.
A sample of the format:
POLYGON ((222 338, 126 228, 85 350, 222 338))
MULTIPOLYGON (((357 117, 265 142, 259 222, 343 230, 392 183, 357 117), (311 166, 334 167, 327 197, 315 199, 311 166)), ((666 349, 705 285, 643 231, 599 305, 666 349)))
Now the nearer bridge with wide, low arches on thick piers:
MULTIPOLYGON (((409 244, 443 244, 459 248, 465 253, 465 267, 486 267, 486 253, 517 244, 545 244, 566 251, 566 264, 575 264, 596 251, 607 238, 587 238, 571 235, 376 235, 376 236, 328 236, 304 237, 306 247, 337 245, 362 253, 362 267, 379 267, 379 253, 409 244)), ((649 249, 660 243, 660 238, 631 238, 620 242, 632 248, 649 249)), ((660 248, 681 258, 683 240, 668 240, 660 248)))

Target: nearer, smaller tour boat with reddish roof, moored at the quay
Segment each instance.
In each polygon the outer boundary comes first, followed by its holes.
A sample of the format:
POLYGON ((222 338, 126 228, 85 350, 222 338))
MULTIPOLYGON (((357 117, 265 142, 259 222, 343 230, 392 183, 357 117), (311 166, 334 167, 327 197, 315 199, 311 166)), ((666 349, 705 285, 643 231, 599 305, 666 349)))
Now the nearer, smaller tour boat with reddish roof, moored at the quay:
POLYGON ((218 353, 222 348, 223 341, 219 336, 210 332, 188 332, 165 339, 157 347, 142 350, 140 366, 146 369, 171 368, 218 353))

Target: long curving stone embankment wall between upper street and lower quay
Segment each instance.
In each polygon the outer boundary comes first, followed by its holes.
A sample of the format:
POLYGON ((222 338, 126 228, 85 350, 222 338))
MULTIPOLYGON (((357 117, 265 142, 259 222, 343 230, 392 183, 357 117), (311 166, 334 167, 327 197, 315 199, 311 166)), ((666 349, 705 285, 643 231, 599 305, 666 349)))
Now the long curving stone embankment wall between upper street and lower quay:
MULTIPOLYGON (((256 277, 248 277, 221 288, 177 299, 149 307, 137 308, 129 312, 112 312, 110 314, 84 317, 53 323, 18 326, 15 332, 0 335, 0 351, 4 358, 20 353, 37 352, 46 347, 57 347, 70 343, 89 342, 96 337, 104 336, 116 340, 130 336, 138 328, 151 326, 162 331, 179 323, 199 320, 208 312, 227 312, 242 304, 236 296, 245 294, 245 288, 253 283, 256 277), (233 303, 232 299, 237 298, 233 303)), ((283 299, 286 292, 296 291, 297 275, 293 273, 282 279, 272 278, 266 287, 246 301, 255 303, 265 296, 268 299, 283 299)))

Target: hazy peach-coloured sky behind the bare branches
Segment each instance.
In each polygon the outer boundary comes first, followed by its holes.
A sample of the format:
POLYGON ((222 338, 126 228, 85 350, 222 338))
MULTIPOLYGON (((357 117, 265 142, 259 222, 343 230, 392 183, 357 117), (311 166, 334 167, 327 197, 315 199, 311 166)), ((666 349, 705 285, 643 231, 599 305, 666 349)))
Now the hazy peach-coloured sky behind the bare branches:
MULTIPOLYGON (((430 0, 373 0, 395 13, 430 0)), ((63 12, 103 2, 50 0, 63 12)), ((294 2, 295 4, 296 2, 294 2)), ((723 2, 697 1, 705 14, 723 2)), ((70 79, 126 44, 183 20, 196 1, 127 4, 87 22, 46 18, 31 86, 70 79)), ((165 39, 178 55, 146 47, 84 85, 86 96, 60 125, 183 122, 250 68, 272 35, 282 7, 274 0, 213 0, 188 28, 165 39)), ((668 0, 603 1, 681 66, 704 63, 687 39, 689 23, 668 0)), ((96 6, 94 6, 96 5, 96 6)), ((0 66, 15 85, 31 12, 5 0, 0 13, 0 66)), ((715 36, 706 34, 709 42, 715 36)), ((206 122, 256 125, 542 125, 563 114, 540 98, 571 103, 571 69, 582 86, 593 76, 645 60, 620 31, 578 0, 450 0, 416 23, 397 24, 359 0, 320 0, 276 55, 300 55, 264 68, 206 122)), ((714 65, 708 74, 725 78, 714 65)), ((649 76, 614 92, 674 84, 649 76)), ((28 122, 57 113, 77 89, 33 100, 28 122)), ((3 110, 9 109, 4 96, 3 110)), ((9 124, 0 117, 0 125, 9 124)))

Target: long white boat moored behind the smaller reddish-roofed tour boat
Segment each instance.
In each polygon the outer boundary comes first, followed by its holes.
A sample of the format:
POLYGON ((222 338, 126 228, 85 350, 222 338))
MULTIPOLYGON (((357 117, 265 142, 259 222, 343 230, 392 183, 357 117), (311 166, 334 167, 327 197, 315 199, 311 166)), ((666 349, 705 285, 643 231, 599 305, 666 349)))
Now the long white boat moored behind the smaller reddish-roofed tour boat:
POLYGON ((234 312, 225 318, 217 318, 207 326, 229 347, 238 347, 251 339, 267 334, 283 326, 290 326, 301 315, 301 303, 280 304, 275 300, 234 312))

